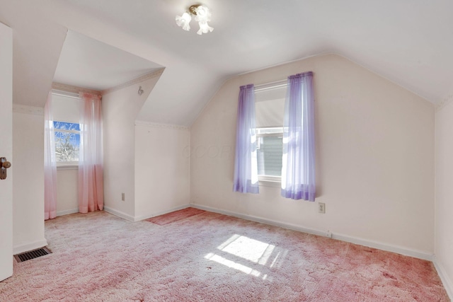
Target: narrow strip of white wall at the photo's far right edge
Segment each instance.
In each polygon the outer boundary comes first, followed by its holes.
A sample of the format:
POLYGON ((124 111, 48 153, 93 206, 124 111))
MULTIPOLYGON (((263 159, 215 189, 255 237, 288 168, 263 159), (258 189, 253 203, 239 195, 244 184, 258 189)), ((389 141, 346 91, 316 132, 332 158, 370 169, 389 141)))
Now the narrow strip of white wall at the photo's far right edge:
POLYGON ((436 112, 435 255, 453 296, 453 103, 436 112))

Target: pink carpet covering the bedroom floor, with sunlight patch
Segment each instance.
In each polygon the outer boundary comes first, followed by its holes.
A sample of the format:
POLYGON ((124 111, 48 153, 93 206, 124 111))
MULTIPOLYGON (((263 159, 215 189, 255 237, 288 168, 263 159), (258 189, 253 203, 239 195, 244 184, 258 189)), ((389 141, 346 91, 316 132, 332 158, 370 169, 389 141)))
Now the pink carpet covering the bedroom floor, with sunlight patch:
POLYGON ((46 221, 0 301, 449 301, 432 262, 208 211, 158 226, 46 221))

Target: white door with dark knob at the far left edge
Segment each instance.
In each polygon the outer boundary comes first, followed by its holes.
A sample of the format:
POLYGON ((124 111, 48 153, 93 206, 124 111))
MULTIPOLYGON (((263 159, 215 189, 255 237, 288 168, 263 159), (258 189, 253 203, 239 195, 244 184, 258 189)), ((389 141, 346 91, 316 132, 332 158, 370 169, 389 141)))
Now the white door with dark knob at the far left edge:
POLYGON ((0 157, 11 161, 0 180, 0 281, 13 275, 13 30, 0 23, 0 157))

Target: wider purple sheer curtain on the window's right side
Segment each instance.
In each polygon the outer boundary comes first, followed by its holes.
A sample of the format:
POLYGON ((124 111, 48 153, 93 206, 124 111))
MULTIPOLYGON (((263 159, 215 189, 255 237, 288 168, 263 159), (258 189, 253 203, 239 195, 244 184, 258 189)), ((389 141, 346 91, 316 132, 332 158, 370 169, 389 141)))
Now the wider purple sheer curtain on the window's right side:
POLYGON ((314 202, 314 97, 311 71, 288 77, 282 164, 282 197, 314 202))

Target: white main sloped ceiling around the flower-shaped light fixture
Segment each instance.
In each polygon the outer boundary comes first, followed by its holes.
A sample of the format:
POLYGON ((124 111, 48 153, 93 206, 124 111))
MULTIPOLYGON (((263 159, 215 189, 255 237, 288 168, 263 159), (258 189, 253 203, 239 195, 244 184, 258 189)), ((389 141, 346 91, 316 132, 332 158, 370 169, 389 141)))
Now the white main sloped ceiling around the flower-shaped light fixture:
POLYGON ((0 0, 14 102, 44 104, 67 28, 166 67, 139 120, 190 125, 229 77, 331 52, 432 103, 452 98, 453 1, 206 0, 214 32, 201 36, 175 23, 195 3, 0 0))

